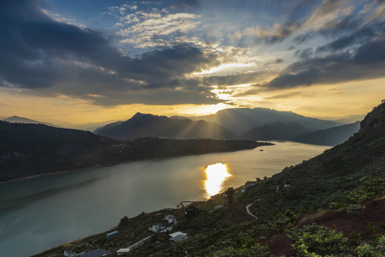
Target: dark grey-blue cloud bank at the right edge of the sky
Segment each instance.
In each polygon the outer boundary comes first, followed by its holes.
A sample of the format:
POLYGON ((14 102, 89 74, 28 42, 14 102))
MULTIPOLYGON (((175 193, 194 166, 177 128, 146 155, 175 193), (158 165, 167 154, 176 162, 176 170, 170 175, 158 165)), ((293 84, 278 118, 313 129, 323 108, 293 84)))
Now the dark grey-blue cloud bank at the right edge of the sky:
POLYGON ((354 54, 329 54, 291 64, 287 73, 267 84, 266 90, 289 89, 312 84, 334 84, 344 81, 376 79, 385 76, 385 39, 366 42, 354 54))

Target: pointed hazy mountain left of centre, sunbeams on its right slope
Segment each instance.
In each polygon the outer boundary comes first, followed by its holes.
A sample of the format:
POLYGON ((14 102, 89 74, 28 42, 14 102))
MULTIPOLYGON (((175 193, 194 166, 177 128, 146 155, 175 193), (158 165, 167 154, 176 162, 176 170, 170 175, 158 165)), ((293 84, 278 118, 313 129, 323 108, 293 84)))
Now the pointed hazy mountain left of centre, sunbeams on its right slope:
POLYGON ((235 138, 235 134, 222 126, 207 121, 170 119, 152 114, 135 114, 121 124, 108 124, 96 129, 96 134, 125 140, 144 136, 165 138, 235 138))

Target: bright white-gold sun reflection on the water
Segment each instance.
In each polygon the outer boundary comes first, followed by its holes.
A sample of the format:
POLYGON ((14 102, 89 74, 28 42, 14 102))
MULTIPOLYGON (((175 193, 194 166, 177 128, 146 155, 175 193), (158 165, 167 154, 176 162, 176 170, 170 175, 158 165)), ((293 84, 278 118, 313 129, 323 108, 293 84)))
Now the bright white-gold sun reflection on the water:
POLYGON ((222 190, 223 182, 232 176, 227 172, 226 164, 215 163, 207 166, 205 189, 207 197, 214 196, 222 190))

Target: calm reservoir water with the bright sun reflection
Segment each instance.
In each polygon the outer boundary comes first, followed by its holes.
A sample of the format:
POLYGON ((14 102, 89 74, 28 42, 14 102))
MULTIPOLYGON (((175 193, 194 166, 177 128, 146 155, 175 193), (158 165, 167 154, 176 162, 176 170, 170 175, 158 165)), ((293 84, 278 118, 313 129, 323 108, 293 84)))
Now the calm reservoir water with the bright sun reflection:
POLYGON ((204 200, 218 190, 272 176, 328 147, 272 143, 252 150, 135 161, 2 183, 1 256, 30 256, 106 231, 123 216, 204 200))

